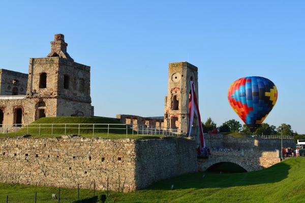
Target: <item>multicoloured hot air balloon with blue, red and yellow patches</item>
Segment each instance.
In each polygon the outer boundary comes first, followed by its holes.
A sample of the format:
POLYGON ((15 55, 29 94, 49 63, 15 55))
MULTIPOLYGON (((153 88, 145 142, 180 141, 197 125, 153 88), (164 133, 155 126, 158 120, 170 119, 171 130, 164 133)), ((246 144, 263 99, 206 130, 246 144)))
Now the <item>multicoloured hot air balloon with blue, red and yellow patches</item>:
POLYGON ((245 77, 232 83, 228 99, 236 114, 254 132, 277 103, 278 90, 267 78, 245 77))

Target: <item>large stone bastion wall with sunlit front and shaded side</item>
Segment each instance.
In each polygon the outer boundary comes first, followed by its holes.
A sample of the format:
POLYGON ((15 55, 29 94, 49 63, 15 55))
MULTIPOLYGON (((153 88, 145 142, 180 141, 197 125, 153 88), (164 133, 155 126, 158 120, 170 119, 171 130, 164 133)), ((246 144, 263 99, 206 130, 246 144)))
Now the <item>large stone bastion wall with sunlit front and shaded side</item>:
POLYGON ((0 182, 133 191, 198 170, 187 139, 2 138, 0 182))

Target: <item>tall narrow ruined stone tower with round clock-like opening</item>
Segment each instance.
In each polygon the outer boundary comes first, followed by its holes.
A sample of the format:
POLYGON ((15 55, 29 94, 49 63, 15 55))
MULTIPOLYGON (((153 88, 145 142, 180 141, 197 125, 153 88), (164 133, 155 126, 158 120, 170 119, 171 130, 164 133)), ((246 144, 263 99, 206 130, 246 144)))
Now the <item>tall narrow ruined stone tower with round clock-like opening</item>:
MULTIPOLYGON (((198 68, 188 62, 169 63, 168 89, 165 97, 164 127, 188 132, 190 81, 194 81, 198 98, 198 68)), ((198 101, 199 102, 199 101, 198 101)), ((194 118, 194 130, 197 121, 194 118)))

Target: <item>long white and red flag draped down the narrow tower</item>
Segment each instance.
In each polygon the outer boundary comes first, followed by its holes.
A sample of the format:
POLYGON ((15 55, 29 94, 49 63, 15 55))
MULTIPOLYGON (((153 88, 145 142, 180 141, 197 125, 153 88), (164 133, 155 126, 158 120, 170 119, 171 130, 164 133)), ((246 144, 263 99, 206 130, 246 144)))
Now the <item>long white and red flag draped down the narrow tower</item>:
POLYGON ((203 138, 203 130, 202 130, 202 124, 201 124, 201 118, 200 118, 200 112, 199 112, 199 106, 198 106, 198 101, 197 101, 197 96, 195 93, 195 85, 193 81, 190 81, 191 83, 191 98, 190 98, 190 103, 189 103, 189 112, 190 112, 190 123, 189 123, 189 137, 191 136, 192 132, 192 125, 194 121, 194 113, 197 116, 197 122, 199 126, 199 131, 200 131, 200 142, 201 142, 201 147, 205 147, 205 142, 203 138))

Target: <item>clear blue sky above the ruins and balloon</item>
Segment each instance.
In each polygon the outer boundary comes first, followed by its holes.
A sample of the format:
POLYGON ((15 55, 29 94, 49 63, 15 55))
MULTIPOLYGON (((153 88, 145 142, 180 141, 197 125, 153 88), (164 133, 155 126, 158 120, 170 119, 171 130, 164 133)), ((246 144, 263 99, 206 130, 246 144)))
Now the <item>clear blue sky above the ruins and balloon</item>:
POLYGON ((91 66, 98 116, 162 116, 168 63, 198 66, 203 120, 239 120, 230 84, 263 76, 279 90, 265 122, 305 133, 305 1, 5 1, 0 67, 27 73, 63 33, 76 62, 91 66))

